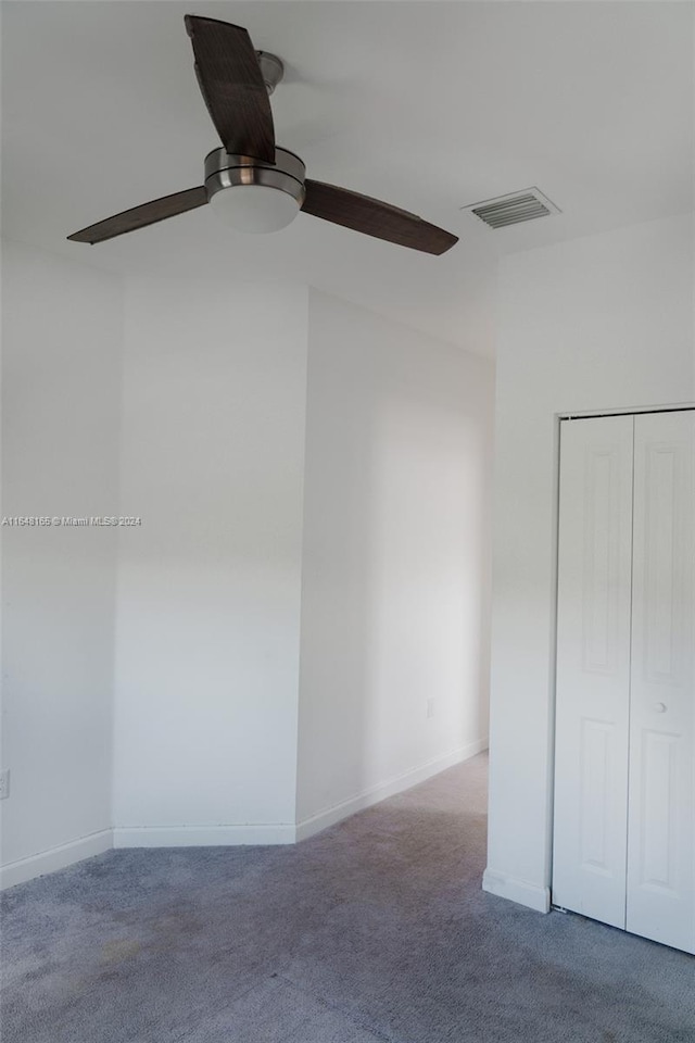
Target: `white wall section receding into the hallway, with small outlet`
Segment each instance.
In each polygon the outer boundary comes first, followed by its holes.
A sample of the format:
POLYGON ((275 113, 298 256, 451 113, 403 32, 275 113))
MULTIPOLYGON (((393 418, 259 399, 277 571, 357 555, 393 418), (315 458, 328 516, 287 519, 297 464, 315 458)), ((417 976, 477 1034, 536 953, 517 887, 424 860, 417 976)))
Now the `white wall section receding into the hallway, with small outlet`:
POLYGON ((494 377, 316 291, 308 345, 300 821, 486 744, 494 377))

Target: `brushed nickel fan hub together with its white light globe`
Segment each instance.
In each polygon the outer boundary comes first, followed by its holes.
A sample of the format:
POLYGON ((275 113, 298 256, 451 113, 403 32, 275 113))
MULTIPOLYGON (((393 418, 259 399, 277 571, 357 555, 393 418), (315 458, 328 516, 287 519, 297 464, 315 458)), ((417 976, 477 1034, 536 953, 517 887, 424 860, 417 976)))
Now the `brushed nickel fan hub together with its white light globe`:
POLYGON ((286 228, 304 202, 305 167, 298 155, 276 148, 276 162, 214 149, 205 158, 211 206, 239 231, 286 228))

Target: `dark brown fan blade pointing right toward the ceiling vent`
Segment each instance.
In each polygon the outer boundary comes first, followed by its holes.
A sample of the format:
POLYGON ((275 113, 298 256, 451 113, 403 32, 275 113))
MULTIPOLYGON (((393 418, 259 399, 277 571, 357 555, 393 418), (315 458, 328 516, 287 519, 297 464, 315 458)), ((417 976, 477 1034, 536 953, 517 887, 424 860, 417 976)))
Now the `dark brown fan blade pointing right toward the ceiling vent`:
POLYGON ((425 253, 445 253, 455 242, 456 236, 430 225, 407 210, 399 210, 390 203, 382 203, 370 196, 361 196, 346 188, 325 185, 323 181, 304 181, 306 199, 302 210, 314 217, 332 221, 334 225, 354 228, 377 239, 397 242, 401 247, 422 250, 425 253))

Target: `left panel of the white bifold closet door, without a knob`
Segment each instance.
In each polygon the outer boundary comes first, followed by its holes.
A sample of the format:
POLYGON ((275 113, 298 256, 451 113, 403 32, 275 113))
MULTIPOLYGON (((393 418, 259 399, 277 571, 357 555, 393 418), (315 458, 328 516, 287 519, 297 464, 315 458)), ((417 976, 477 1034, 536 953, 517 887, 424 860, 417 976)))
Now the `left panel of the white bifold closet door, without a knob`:
POLYGON ((632 416, 560 430, 553 902, 626 926, 632 416))

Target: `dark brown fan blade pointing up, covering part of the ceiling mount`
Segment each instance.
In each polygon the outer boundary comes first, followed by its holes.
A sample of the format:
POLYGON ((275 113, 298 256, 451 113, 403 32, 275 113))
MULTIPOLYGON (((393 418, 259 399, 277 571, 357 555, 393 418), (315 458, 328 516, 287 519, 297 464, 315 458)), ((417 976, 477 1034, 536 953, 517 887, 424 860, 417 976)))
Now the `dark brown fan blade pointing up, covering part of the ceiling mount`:
POLYGON ((239 25, 187 14, 195 75, 227 152, 275 163, 275 129, 251 37, 239 25))

